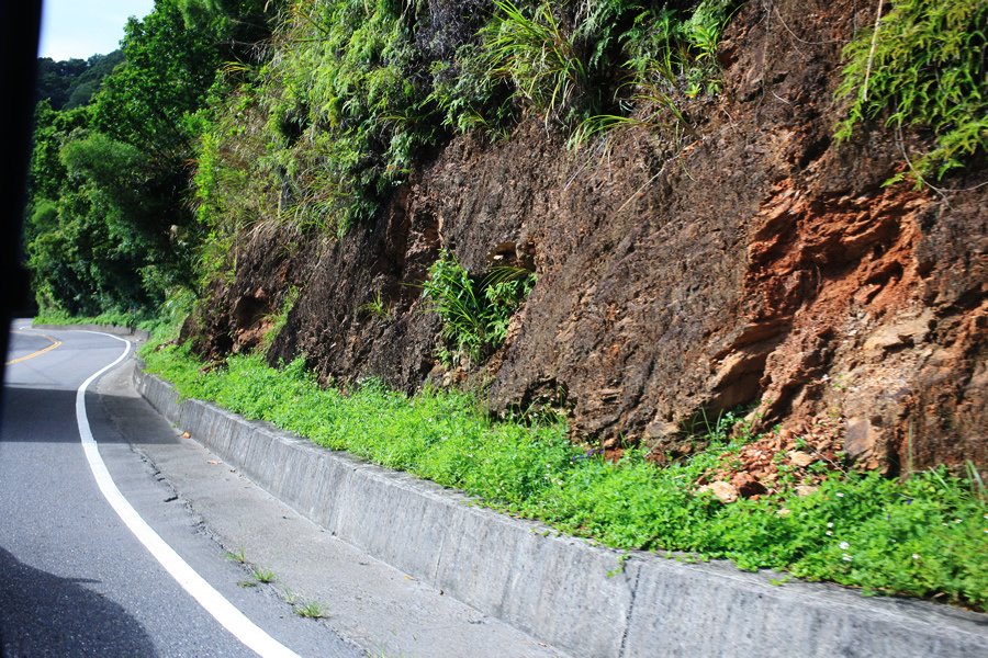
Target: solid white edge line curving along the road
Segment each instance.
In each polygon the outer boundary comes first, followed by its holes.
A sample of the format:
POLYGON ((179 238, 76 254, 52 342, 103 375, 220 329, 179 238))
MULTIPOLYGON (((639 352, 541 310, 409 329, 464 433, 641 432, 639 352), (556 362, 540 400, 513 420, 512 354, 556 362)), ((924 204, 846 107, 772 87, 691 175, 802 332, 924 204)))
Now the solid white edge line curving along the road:
POLYGON ((109 336, 126 344, 123 353, 116 358, 116 361, 110 365, 97 371, 88 379, 86 379, 76 392, 76 420, 79 423, 79 436, 82 440, 82 450, 86 453, 86 460, 89 462, 89 468, 100 487, 103 497, 110 503, 110 507, 120 515, 124 524, 134 533, 134 536, 144 544, 145 548, 165 567, 165 570, 171 575, 176 581, 182 586, 199 604, 205 609, 213 617, 220 622, 224 628, 229 631, 234 637, 244 643, 245 646, 265 658, 284 657, 299 658, 297 655, 282 645, 280 642, 268 635, 257 624, 251 622, 240 612, 233 603, 227 601, 223 594, 216 591, 213 586, 195 572, 195 570, 183 560, 175 549, 156 533, 147 522, 141 518, 127 499, 123 497, 120 489, 113 483, 110 472, 103 457, 100 456, 99 447, 96 439, 92 436, 92 430, 89 427, 89 417, 86 415, 86 389, 96 381, 97 377, 114 367, 121 361, 126 359, 131 352, 131 343, 126 340, 101 331, 86 331, 87 333, 98 333, 99 336, 109 336))

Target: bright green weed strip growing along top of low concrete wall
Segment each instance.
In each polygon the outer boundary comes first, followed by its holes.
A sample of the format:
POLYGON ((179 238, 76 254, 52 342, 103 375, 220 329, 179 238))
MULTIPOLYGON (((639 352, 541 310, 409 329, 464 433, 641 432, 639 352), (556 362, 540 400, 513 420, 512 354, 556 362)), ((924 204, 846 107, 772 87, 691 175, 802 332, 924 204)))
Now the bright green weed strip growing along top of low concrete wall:
POLYGON ((203 370, 188 345, 155 344, 147 371, 183 397, 271 422, 316 444, 407 470, 621 549, 727 558, 743 569, 988 606, 988 506, 983 485, 938 469, 905 481, 832 473, 798 496, 793 483, 760 500, 725 504, 697 479, 746 439, 711 428, 709 447, 658 468, 639 451, 618 463, 572 444, 563 423, 494 421, 471 396, 426 389, 407 397, 367 381, 344 395, 321 388, 296 360, 281 370, 260 355, 203 370))

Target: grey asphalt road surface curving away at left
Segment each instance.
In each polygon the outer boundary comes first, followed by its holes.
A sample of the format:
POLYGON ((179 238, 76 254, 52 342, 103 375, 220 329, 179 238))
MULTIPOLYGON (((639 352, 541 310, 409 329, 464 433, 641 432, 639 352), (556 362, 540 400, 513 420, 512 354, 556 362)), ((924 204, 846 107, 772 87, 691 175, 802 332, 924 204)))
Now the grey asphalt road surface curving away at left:
POLYGON ((199 590, 200 599, 226 601, 249 621, 224 626, 183 589, 108 502, 80 440, 77 390, 121 356, 124 343, 91 332, 19 330, 24 325, 12 326, 0 426, 4 657, 255 656, 243 639, 254 625, 262 640, 251 646, 268 647, 262 655, 363 655, 263 588, 242 587, 244 568, 173 502, 114 430, 108 405, 89 393, 86 415, 111 486, 213 589, 207 597, 199 590))

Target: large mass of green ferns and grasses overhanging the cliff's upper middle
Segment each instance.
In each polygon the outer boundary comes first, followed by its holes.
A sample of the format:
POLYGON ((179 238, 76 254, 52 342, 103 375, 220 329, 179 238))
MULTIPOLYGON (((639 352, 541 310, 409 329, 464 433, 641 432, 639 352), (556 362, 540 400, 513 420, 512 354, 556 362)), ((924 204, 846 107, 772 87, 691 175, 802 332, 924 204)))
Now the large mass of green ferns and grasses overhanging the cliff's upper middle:
POLYGON ((197 178, 200 223, 217 246, 207 250, 228 253, 223 227, 257 209, 302 231, 343 234, 374 217, 451 132, 502 135, 526 106, 566 129, 604 109, 625 112, 630 105, 616 99, 626 82, 616 71, 650 70, 650 55, 661 49, 649 32, 658 15, 675 16, 666 50, 685 44, 682 61, 666 53, 682 69, 669 76, 701 71, 692 84, 712 92, 716 41, 734 5, 704 0, 681 18, 640 0, 289 2, 270 59, 211 103, 197 178), (244 112, 238 97, 254 99, 246 139, 244 124, 232 121, 244 112), (254 127, 257 116, 266 117, 265 135, 254 127), (233 144, 252 158, 225 158, 233 144), (232 179, 231 193, 221 175, 232 179), (259 208, 238 212, 238 200, 261 196, 259 208))

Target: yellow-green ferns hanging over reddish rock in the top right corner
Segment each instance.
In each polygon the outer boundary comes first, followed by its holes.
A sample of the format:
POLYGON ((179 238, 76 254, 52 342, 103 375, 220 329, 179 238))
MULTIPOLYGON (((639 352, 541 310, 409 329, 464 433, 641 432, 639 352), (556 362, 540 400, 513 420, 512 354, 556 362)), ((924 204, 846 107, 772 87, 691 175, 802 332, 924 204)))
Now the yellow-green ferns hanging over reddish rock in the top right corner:
POLYGON ((844 48, 838 95, 850 97, 837 137, 889 111, 886 124, 921 126, 935 146, 905 177, 942 178, 988 147, 988 4, 979 0, 902 0, 844 48))

